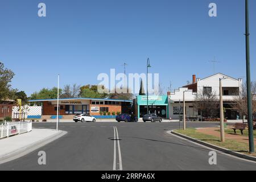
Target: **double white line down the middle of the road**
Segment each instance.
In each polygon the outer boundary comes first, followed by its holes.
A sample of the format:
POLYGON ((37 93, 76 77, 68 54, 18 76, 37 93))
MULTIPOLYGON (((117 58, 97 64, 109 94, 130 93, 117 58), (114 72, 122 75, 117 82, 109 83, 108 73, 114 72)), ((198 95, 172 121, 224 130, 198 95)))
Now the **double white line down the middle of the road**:
POLYGON ((114 126, 114 163, 113 163, 113 170, 122 170, 122 156, 121 156, 121 149, 118 137, 117 127, 114 126), (117 147, 118 147, 118 156, 119 156, 119 163, 117 163, 117 147), (117 169, 117 164, 119 164, 119 169, 117 169))

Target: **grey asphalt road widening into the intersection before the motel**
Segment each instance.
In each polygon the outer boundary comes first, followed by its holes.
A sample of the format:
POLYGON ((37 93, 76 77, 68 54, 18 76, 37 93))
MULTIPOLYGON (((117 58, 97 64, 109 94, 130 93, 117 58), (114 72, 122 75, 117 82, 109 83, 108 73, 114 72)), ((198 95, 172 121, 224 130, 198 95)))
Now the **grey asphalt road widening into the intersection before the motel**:
MULTIPOLYGON (((33 123, 35 128, 55 129, 56 123, 33 123)), ((215 123, 188 123, 212 127, 215 123)), ((255 170, 256 163, 218 153, 210 165, 209 149, 166 133, 179 123, 60 123, 68 131, 38 150, 0 170, 255 170), (116 129, 115 129, 116 128, 116 129), (46 152, 46 165, 38 152, 46 152)))

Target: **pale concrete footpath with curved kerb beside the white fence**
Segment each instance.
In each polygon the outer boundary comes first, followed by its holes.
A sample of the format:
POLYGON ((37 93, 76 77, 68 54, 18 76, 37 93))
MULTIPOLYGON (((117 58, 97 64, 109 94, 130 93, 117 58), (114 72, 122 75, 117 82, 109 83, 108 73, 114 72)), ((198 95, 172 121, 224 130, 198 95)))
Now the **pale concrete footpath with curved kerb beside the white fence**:
POLYGON ((27 155, 65 134, 66 131, 32 129, 29 133, 3 138, 0 140, 0 164, 27 155))

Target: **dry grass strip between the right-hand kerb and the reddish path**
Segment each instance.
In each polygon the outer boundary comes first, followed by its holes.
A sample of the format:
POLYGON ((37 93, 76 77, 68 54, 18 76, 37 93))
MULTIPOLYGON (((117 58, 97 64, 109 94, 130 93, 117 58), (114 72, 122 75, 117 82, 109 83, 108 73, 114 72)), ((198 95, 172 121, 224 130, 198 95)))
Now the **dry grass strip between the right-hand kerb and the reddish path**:
MULTIPOLYGON (((230 139, 226 139, 225 142, 220 142, 219 137, 214 137, 212 135, 199 133, 199 132, 196 131, 196 129, 193 129, 193 128, 188 128, 185 131, 184 130, 174 130, 174 131, 176 133, 180 133, 180 134, 186 135, 188 137, 199 139, 203 142, 207 142, 207 143, 210 143, 210 144, 214 144, 216 146, 227 148, 227 149, 232 150, 232 151, 241 152, 243 154, 256 156, 256 153, 249 154, 249 144, 247 144, 247 143, 237 142, 236 140, 230 140, 230 139)), ((255 148, 255 150, 256 150, 256 148, 255 148)))

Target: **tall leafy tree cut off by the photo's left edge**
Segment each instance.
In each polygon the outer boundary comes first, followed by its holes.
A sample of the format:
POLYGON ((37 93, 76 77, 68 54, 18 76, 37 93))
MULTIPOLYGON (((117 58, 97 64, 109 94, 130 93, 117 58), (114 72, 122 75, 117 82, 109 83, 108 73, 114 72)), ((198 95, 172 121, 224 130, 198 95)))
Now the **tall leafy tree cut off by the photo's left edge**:
POLYGON ((10 98, 12 94, 11 92, 13 91, 13 89, 11 89, 10 82, 14 75, 13 71, 5 68, 5 65, 0 62, 0 100, 10 98))

